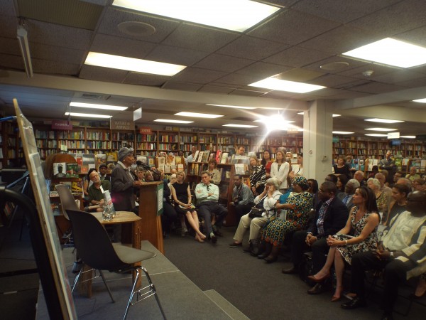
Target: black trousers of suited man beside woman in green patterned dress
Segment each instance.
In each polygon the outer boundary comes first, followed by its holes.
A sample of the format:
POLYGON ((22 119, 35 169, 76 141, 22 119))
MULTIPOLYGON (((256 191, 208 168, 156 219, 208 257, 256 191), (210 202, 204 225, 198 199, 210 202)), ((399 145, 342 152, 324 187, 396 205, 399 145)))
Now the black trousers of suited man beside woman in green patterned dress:
POLYGON ((303 253, 307 250, 312 250, 312 263, 314 269, 313 274, 321 270, 327 260, 327 253, 329 246, 327 245, 326 238, 320 238, 309 246, 306 244, 306 233, 307 230, 296 231, 291 240, 291 261, 295 267, 299 267, 300 262, 303 260, 303 253))

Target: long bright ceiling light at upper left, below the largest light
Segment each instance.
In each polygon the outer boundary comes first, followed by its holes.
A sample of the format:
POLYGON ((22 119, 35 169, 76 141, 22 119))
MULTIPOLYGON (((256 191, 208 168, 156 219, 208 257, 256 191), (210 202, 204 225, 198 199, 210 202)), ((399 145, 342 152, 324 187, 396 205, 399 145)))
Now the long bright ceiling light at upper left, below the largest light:
POLYGON ((107 55, 90 51, 85 65, 97 65, 98 67, 129 70, 136 73, 151 73, 153 75, 173 76, 186 68, 186 65, 173 65, 157 61, 127 58, 120 55, 107 55))

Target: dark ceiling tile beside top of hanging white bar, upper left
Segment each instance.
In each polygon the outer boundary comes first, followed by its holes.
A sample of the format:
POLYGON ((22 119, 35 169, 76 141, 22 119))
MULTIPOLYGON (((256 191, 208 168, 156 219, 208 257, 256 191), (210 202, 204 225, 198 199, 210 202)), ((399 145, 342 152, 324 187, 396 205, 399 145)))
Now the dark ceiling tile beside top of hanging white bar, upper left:
POLYGON ((51 46, 88 50, 93 31, 28 20, 28 41, 51 46))

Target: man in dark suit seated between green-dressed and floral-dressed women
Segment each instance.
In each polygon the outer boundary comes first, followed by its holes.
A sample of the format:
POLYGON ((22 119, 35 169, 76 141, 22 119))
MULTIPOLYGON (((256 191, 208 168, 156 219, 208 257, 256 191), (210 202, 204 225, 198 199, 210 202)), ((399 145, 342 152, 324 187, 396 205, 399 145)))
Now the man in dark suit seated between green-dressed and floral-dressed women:
MULTIPOLYGON (((312 262, 314 269, 319 271, 325 264, 329 251, 327 237, 341 230, 348 220, 349 210, 335 195, 337 187, 331 181, 322 183, 318 192, 320 203, 317 204, 315 218, 310 222, 307 230, 297 231, 291 242, 291 260, 293 267, 284 269, 283 273, 296 273, 303 260, 305 250, 312 250, 312 262)), ((323 284, 316 284, 308 290, 310 294, 318 294, 324 291, 323 284)))

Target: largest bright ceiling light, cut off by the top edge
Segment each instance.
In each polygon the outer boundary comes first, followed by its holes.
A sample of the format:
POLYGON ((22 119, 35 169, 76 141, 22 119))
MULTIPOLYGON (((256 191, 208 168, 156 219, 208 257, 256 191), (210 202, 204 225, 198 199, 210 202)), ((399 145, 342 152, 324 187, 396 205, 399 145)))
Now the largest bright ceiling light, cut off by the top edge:
POLYGON ((113 5, 239 32, 280 10, 249 0, 114 0, 113 5))

